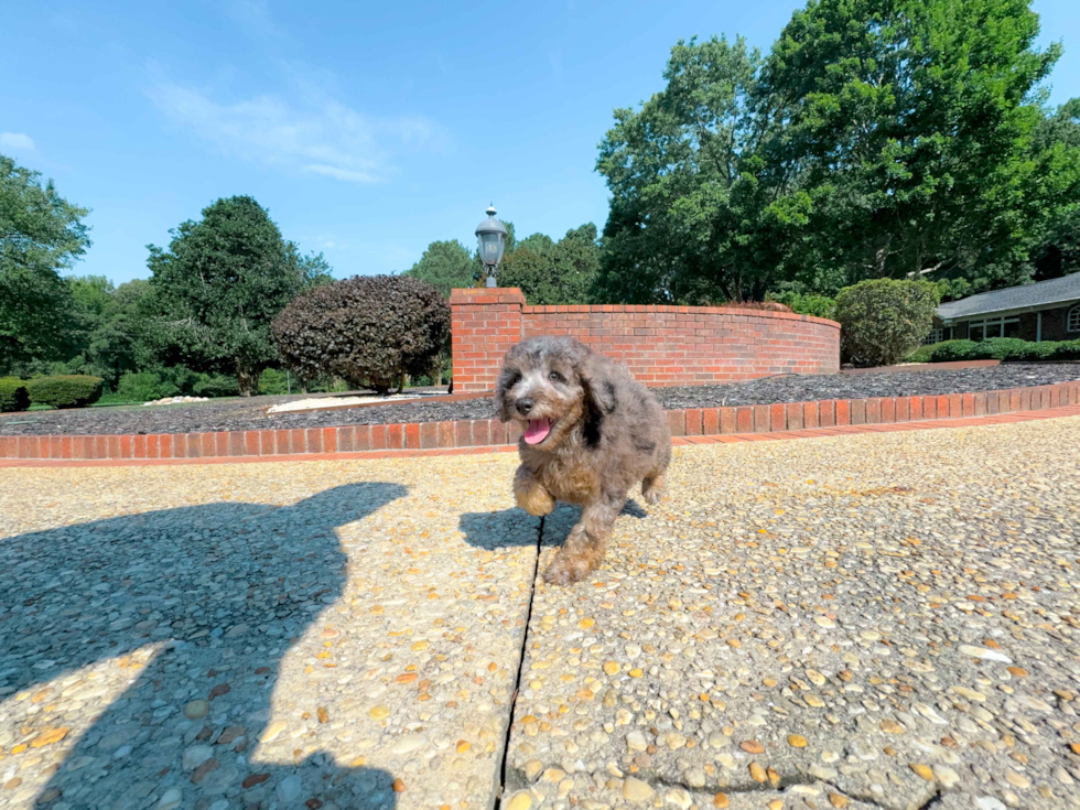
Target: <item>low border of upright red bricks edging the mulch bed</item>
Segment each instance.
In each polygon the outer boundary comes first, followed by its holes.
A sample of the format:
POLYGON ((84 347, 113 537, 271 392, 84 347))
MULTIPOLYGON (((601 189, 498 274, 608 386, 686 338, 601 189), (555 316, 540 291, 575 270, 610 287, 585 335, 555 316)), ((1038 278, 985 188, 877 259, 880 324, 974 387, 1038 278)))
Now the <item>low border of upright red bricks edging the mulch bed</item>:
MULTIPOLYGON (((738 435, 894 424, 1037 411, 1080 404, 1080 381, 929 397, 872 397, 667 411, 673 436, 738 435)), ((520 431, 496 419, 355 424, 213 433, 0 436, 0 458, 127 461, 253 458, 326 453, 497 447, 520 431)))

